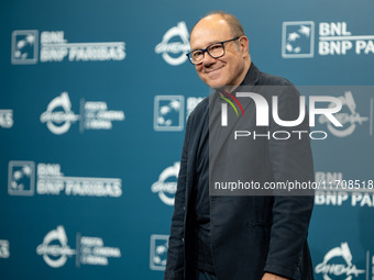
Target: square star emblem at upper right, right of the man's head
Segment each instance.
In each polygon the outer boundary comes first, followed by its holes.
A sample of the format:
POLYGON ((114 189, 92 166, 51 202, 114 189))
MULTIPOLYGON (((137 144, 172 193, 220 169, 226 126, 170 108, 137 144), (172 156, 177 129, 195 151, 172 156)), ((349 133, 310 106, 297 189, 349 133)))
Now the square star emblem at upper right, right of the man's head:
POLYGON ((314 57, 315 23, 312 21, 284 22, 282 30, 282 57, 314 57))

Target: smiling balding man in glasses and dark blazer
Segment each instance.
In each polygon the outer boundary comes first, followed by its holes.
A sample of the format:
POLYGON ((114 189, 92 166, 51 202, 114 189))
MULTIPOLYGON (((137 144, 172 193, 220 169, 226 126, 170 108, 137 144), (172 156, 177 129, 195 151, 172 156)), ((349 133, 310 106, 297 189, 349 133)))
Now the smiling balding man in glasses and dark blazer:
MULTIPOLYGON (((255 126, 251 99, 241 101, 241 117, 229 112, 229 128, 221 125, 222 102, 238 101, 240 88, 250 87, 270 103, 277 96, 283 120, 297 119, 298 92, 287 80, 252 64, 249 40, 231 14, 219 11, 200 20, 191 31, 190 47, 198 76, 216 92, 187 121, 165 280, 312 279, 307 245, 311 195, 227 195, 212 194, 211 188, 213 181, 239 177, 262 186, 314 180, 309 138, 233 139, 232 127, 255 126)), ((308 131, 307 119, 298 131, 308 131)), ((272 120, 268 127, 274 133, 280 126, 272 120)))

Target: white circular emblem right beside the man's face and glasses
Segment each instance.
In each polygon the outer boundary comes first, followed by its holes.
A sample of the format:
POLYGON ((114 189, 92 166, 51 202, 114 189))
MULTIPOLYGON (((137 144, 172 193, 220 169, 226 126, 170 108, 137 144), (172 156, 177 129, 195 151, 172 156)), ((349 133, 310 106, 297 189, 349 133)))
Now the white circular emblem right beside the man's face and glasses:
POLYGON ((164 60, 169 65, 180 65, 187 60, 188 41, 188 30, 186 23, 182 21, 177 26, 169 29, 165 33, 163 41, 155 47, 155 52, 156 54, 162 54, 164 60))

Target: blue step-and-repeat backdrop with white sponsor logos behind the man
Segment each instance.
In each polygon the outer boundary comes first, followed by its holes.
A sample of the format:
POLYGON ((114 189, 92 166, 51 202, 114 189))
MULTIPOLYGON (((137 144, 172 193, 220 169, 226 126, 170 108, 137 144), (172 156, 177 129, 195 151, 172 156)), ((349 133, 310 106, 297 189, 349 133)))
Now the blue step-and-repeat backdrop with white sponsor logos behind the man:
POLYGON ((2 1, 0 279, 163 279, 186 120, 209 94, 185 53, 212 10, 261 70, 341 101, 342 126, 312 127, 315 277, 374 279, 367 0, 2 1))

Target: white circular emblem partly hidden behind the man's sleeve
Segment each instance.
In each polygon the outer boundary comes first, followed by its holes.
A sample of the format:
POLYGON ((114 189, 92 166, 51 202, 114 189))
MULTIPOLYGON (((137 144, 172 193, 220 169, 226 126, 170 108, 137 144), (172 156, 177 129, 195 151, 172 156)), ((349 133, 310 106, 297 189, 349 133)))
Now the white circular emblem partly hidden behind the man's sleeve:
POLYGON ((152 184, 152 192, 158 192, 158 198, 166 205, 174 205, 175 192, 177 191, 177 179, 180 163, 167 167, 158 177, 158 181, 152 184))

